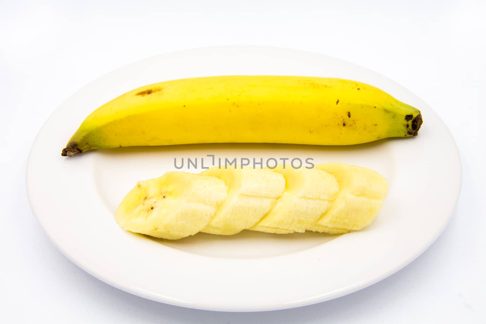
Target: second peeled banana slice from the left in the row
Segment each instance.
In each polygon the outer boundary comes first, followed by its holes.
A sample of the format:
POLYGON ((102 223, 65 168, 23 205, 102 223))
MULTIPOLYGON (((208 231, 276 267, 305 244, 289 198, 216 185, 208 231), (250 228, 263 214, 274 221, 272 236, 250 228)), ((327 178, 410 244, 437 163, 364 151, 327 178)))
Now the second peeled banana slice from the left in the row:
POLYGON ((285 189, 282 174, 271 170, 214 167, 201 174, 215 176, 229 188, 226 200, 202 232, 233 235, 253 227, 275 205, 285 189))

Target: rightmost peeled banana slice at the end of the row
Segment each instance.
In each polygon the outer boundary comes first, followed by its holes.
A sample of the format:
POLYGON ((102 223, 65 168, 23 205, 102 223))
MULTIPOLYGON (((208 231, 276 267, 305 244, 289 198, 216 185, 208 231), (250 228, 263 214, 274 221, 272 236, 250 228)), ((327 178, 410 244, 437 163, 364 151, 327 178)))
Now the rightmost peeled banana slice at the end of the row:
POLYGON ((378 214, 388 193, 388 183, 373 170, 342 163, 315 165, 339 183, 339 193, 329 210, 309 230, 341 234, 360 230, 378 214))

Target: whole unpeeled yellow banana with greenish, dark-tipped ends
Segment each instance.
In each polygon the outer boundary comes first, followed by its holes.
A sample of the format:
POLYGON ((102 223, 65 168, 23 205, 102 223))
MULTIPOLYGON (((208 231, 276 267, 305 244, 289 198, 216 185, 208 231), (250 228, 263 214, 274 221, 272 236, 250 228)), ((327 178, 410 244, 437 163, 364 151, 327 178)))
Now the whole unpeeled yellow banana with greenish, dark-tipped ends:
POLYGON ((61 155, 194 143, 350 145, 416 136, 420 111, 357 81, 216 76, 160 82, 93 111, 61 155))

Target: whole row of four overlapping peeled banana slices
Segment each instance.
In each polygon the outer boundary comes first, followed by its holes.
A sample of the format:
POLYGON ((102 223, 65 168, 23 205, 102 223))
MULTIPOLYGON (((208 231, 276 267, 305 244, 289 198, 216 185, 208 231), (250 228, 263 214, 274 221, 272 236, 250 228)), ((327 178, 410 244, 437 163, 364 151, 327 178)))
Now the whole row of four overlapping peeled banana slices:
POLYGON ((387 192, 378 172, 341 163, 297 170, 214 167, 139 182, 115 219, 128 231, 164 239, 244 229, 341 234, 369 225, 387 192))

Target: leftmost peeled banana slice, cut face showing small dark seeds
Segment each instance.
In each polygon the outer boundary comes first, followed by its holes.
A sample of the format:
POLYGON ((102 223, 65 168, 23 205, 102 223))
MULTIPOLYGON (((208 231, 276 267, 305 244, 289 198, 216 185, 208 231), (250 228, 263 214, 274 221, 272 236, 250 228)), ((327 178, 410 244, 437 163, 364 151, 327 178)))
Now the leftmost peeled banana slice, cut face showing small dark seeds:
POLYGON ((163 239, 200 232, 225 200, 225 183, 208 175, 167 172, 139 181, 123 198, 115 219, 126 230, 163 239))

